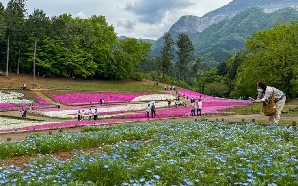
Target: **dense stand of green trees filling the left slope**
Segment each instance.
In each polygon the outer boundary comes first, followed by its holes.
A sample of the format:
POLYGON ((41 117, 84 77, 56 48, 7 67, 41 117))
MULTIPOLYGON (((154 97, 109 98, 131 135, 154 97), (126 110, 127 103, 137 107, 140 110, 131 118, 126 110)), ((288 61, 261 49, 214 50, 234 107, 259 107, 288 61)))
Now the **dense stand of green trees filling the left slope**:
POLYGON ((151 44, 118 41, 104 16, 49 18, 41 9, 27 12, 25 2, 11 0, 6 7, 0 2, 0 71, 126 79, 148 60, 151 44))

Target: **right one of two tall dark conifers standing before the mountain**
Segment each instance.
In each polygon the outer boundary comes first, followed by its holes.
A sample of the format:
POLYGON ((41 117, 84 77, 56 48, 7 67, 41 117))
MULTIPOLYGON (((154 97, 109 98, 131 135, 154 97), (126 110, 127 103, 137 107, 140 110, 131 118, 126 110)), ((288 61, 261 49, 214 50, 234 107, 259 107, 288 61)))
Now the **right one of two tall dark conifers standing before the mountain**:
POLYGON ((187 64, 192 60, 193 58, 193 52, 194 47, 191 42, 191 40, 188 38, 188 36, 184 33, 179 34, 178 41, 176 42, 176 45, 178 47, 178 82, 180 82, 181 78, 181 71, 183 69, 186 69, 187 64))

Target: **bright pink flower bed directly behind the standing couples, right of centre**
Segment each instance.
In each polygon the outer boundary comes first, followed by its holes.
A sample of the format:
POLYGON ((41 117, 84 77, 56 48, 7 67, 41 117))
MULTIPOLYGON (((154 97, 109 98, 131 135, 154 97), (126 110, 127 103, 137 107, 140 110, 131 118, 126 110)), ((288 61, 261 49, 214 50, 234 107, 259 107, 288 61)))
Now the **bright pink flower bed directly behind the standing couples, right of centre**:
MULTIPOLYGON (((197 103, 196 103, 197 104, 197 103)), ((225 102, 223 101, 204 101, 202 103, 201 114, 211 114, 211 113, 226 113, 231 114, 231 112, 220 112, 219 110, 225 110, 234 107, 248 106, 251 103, 248 102, 225 102)), ((182 107, 182 108, 173 108, 165 110, 156 110, 156 117, 181 117, 181 116, 190 116, 192 107, 182 107)), ((151 113, 150 113, 151 115, 151 113)), ((147 114, 144 113, 134 113, 134 114, 121 114, 118 116, 111 116, 111 118, 138 118, 138 117, 147 117, 147 114)))

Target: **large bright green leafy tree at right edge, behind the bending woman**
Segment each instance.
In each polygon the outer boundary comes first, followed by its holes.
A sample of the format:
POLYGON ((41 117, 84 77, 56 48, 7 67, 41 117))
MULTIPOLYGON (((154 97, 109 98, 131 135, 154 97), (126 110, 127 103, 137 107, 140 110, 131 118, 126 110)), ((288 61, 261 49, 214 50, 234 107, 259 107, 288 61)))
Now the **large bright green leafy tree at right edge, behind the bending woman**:
POLYGON ((238 68, 236 91, 239 95, 256 95, 255 85, 266 82, 285 92, 297 95, 298 21, 278 22, 276 27, 259 31, 248 38, 248 56, 238 68))

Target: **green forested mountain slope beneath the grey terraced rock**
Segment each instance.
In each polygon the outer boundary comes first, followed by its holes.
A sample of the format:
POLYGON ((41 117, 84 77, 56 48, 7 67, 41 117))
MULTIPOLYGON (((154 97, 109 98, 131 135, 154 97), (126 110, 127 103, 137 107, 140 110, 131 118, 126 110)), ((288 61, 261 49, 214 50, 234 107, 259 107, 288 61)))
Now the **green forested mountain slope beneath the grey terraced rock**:
POLYGON ((203 55, 206 63, 215 67, 225 60, 224 57, 236 55, 240 48, 244 48, 247 36, 273 28, 278 20, 298 20, 298 12, 294 8, 282 8, 266 14, 258 7, 246 9, 229 20, 222 20, 205 29, 194 42, 196 55, 203 55), (218 53, 225 55, 217 58, 218 53))

